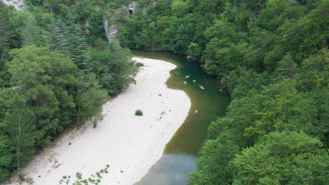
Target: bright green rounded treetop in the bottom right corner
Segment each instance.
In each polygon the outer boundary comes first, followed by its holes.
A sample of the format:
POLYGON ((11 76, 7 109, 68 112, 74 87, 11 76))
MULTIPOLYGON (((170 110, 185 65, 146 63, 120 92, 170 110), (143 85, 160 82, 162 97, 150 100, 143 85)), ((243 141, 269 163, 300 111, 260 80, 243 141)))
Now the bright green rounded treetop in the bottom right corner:
POLYGON ((233 184, 325 184, 329 153, 298 132, 273 132, 232 160, 233 184))

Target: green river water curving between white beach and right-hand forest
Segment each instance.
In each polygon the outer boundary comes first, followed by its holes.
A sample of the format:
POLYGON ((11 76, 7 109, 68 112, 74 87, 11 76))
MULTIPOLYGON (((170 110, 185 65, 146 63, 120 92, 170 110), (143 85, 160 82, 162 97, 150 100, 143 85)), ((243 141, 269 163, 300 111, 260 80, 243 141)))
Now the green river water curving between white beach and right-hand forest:
POLYGON ((192 102, 186 121, 167 144, 160 160, 135 185, 187 184, 189 172, 197 169, 197 152, 207 136, 209 124, 216 117, 224 116, 230 99, 219 91, 219 80, 205 74, 198 62, 169 52, 133 50, 133 53, 176 64, 177 68, 170 71, 167 86, 183 90, 192 102), (190 77, 185 78, 186 75, 190 77), (193 80, 196 82, 193 83, 193 80), (199 85, 205 87, 205 90, 200 89, 199 85), (197 116, 193 114, 195 109, 199 111, 197 116))

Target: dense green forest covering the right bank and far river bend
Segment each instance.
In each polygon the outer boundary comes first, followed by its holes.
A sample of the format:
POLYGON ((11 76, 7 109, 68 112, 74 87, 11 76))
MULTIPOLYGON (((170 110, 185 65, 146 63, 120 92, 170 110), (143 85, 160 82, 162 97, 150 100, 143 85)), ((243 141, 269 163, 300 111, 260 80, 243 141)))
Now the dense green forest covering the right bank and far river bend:
POLYGON ((190 184, 328 183, 328 0, 162 0, 120 41, 198 60, 231 95, 190 184))

